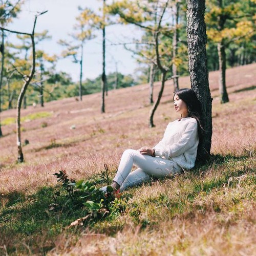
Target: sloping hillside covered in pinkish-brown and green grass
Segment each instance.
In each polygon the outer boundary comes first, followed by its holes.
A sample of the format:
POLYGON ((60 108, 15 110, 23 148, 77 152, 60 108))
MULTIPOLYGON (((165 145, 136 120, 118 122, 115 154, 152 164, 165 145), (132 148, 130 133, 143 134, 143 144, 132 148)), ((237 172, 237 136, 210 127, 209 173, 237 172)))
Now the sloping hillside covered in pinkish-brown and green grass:
MULTIPOLYGON (((22 110, 25 162, 16 164, 15 110, 1 113, 0 254, 73 255, 252 255, 255 225, 256 64, 227 70, 230 102, 220 104, 218 72, 209 74, 212 101, 212 158, 183 174, 125 191, 102 219, 67 228, 84 217, 70 203, 50 210, 59 191, 58 170, 75 180, 114 176, 126 148, 153 146, 173 110, 166 83, 148 128, 148 85, 110 91, 106 113, 100 94, 49 102, 22 110)), ((180 78, 189 87, 189 78, 180 78)), ((155 84, 154 95, 160 84, 155 84)), ((62 198, 62 203, 66 198, 62 198)))

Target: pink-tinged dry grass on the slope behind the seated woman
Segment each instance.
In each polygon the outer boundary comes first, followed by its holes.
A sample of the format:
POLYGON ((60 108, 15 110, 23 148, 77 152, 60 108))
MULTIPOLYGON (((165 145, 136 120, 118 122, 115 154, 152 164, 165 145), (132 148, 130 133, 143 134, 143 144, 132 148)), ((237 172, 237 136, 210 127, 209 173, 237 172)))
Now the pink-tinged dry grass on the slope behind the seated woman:
MULTIPOLYGON (((253 71, 256 65, 227 70, 227 89, 230 102, 221 105, 218 99, 218 72, 210 72, 212 97, 212 153, 241 154, 255 147, 255 86, 253 71)), ((189 86, 189 78, 181 77, 182 87, 189 86)), ((155 84, 155 98, 160 84, 155 84)), ((178 116, 173 111, 172 82, 166 82, 161 104, 155 114, 154 129, 148 128, 148 85, 110 91, 106 97, 106 113, 100 114, 100 94, 53 101, 45 108, 22 110, 22 116, 36 112, 52 113, 51 117, 22 123, 25 163, 15 164, 15 124, 2 126, 0 138, 0 191, 17 189, 32 191, 54 184, 52 174, 66 169, 76 178, 86 178, 103 169, 104 163, 117 167, 125 148, 154 145, 161 139, 167 123, 178 116), (46 122, 47 127, 42 127, 46 122), (75 125, 76 129, 71 129, 75 125), (46 150, 53 143, 59 144, 46 150)), ((16 111, 1 113, 1 119, 15 117, 16 111)))

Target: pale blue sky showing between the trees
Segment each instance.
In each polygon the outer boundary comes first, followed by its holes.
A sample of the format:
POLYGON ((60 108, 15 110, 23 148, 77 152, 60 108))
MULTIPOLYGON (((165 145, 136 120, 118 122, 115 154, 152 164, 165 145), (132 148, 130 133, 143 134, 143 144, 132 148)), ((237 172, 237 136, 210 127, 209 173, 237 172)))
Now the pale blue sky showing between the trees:
MULTIPOLYGON (((8 25, 9 29, 22 32, 31 32, 34 15, 37 12, 48 10, 37 19, 36 32, 49 30, 51 40, 46 40, 38 45, 38 49, 46 51, 48 54, 60 54, 63 48, 57 44, 59 39, 68 39, 68 34, 72 33, 75 17, 78 15, 78 6, 89 7, 95 11, 102 5, 100 0, 26 0, 22 7, 22 13, 18 19, 8 25)), ((133 26, 111 26, 106 28, 106 37, 114 43, 132 41, 133 37, 139 37, 140 31, 133 26)), ((98 36, 87 42, 84 49, 83 79, 95 78, 102 72, 102 45, 101 32, 98 36)), ((14 39, 12 39, 14 40, 14 39)), ((118 63, 118 71, 123 74, 132 74, 138 67, 132 54, 126 51, 123 46, 110 46, 110 41, 106 42, 106 73, 116 70, 115 62, 118 63)), ((74 81, 79 79, 79 65, 72 63, 72 58, 60 60, 57 70, 69 73, 74 81)))

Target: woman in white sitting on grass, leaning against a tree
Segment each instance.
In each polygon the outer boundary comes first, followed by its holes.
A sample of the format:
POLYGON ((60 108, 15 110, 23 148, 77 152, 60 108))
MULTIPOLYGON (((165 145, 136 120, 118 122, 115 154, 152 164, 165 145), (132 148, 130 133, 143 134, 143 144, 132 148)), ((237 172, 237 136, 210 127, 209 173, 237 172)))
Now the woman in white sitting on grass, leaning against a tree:
MULTIPOLYGON (((111 185, 114 193, 151 177, 166 177, 195 166, 202 131, 200 102, 193 90, 181 89, 175 92, 174 108, 181 118, 167 125, 163 139, 155 147, 124 151, 111 185), (131 172, 133 165, 138 168, 131 172)), ((100 190, 106 192, 106 188, 100 190)))

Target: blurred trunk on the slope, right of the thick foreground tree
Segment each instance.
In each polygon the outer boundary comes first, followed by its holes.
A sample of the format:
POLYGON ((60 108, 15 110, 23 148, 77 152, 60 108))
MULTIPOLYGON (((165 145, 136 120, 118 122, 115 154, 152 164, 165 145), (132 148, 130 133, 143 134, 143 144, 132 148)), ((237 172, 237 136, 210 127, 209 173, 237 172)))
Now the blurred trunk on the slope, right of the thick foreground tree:
POLYGON ((222 42, 218 43, 218 56, 219 56, 219 93, 221 103, 229 101, 226 89, 226 53, 225 46, 222 42))

